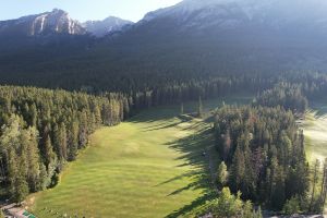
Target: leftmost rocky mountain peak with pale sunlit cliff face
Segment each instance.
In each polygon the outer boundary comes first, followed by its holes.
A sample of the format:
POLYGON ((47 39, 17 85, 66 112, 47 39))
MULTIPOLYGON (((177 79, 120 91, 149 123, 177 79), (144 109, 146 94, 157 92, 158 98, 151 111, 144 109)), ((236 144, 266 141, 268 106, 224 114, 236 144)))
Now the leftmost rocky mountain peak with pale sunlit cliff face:
POLYGON ((0 36, 37 36, 49 34, 83 35, 86 29, 65 11, 55 9, 36 15, 0 22, 0 36))

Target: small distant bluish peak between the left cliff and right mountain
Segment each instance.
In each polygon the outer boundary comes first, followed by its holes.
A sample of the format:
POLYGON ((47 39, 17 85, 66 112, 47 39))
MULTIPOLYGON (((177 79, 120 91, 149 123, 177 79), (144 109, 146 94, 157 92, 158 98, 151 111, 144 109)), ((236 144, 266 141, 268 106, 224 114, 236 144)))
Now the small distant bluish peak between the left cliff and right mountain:
POLYGON ((87 21, 83 26, 87 32, 97 37, 102 37, 113 32, 120 32, 126 26, 132 25, 133 22, 125 21, 119 17, 109 16, 104 21, 87 21))

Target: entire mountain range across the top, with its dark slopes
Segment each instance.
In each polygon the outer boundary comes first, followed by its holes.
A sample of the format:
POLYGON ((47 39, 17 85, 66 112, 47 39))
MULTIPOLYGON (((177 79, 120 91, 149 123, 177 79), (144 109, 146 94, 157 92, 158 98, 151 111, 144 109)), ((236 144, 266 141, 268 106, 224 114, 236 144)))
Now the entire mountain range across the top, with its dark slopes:
POLYGON ((119 82, 133 83, 131 75, 146 83, 326 71, 326 37, 324 0, 184 0, 135 24, 114 17, 81 24, 53 10, 0 22, 0 50, 7 49, 0 76, 10 84, 119 89, 119 82), (27 43, 17 44, 16 35, 27 43))

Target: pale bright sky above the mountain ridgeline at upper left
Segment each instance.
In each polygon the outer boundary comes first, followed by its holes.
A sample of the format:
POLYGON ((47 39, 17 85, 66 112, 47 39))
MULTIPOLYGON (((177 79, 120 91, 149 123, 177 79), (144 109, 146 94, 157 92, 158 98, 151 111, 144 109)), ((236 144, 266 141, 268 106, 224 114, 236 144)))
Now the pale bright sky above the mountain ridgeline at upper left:
POLYGON ((55 8, 68 11, 81 22, 102 20, 109 15, 130 21, 141 20, 145 13, 173 5, 181 0, 0 0, 0 21, 27 14, 51 11, 55 8))

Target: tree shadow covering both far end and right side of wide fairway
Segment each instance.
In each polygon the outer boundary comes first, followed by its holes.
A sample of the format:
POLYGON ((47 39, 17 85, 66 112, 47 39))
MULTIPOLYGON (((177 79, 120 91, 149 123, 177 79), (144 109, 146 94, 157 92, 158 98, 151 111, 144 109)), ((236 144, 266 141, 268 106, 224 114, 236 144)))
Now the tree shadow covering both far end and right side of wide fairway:
POLYGON ((192 166, 193 169, 162 181, 154 186, 160 186, 177 180, 187 179, 187 181, 191 181, 189 184, 173 190, 171 193, 167 194, 167 197, 179 195, 187 190, 201 190, 202 194, 197 198, 194 198, 191 203, 183 205, 181 208, 167 215, 167 218, 180 217, 191 211, 193 213, 196 208, 204 206, 207 201, 217 197, 217 190, 213 180, 211 169, 217 169, 218 160, 215 158, 218 158, 218 154, 208 154, 216 153, 215 149, 210 149, 215 145, 215 138, 211 131, 213 114, 208 113, 207 117, 199 120, 190 114, 180 116, 179 110, 179 106, 159 107, 141 112, 130 120, 130 122, 134 123, 150 123, 143 129, 144 132, 178 126, 180 130, 193 133, 165 144, 180 154, 175 160, 183 160, 183 164, 177 165, 177 168, 192 166), (174 118, 173 121, 171 120, 172 118, 174 118), (183 123, 187 124, 180 125, 183 123), (210 159, 215 160, 214 164, 213 161, 210 162, 210 159))

